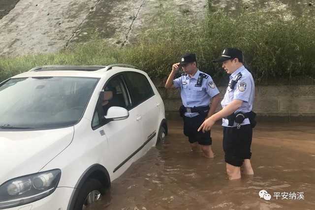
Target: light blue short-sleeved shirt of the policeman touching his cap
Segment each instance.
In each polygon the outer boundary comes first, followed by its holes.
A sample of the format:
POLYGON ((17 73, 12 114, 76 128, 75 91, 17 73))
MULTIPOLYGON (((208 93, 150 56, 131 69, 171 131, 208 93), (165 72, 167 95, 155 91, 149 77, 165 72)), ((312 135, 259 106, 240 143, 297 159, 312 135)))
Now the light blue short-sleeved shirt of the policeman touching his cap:
MULTIPOLYGON (((193 78, 188 74, 182 75, 180 78, 174 79, 173 83, 175 88, 181 88, 181 98, 185 107, 206 106, 210 104, 210 99, 218 95, 220 92, 210 77, 205 73, 202 80, 201 87, 197 86, 197 80, 201 71, 196 72, 193 78)), ((187 117, 197 116, 199 113, 185 113, 187 117)))

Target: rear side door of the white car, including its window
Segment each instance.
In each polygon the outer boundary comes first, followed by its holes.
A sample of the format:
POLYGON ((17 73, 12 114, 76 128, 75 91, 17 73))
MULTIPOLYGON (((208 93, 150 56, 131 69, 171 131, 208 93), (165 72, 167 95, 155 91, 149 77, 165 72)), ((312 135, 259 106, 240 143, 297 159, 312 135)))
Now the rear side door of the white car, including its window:
POLYGON ((124 76, 131 90, 132 100, 140 113, 143 126, 142 142, 146 144, 158 134, 160 102, 144 74, 126 72, 124 76))

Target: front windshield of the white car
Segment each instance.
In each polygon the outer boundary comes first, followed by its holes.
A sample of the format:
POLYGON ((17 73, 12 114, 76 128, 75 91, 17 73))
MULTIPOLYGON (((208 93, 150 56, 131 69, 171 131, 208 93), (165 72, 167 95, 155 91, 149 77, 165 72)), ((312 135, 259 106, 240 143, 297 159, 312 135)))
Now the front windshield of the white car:
POLYGON ((97 81, 78 77, 9 79, 0 86, 0 131, 76 124, 97 81))

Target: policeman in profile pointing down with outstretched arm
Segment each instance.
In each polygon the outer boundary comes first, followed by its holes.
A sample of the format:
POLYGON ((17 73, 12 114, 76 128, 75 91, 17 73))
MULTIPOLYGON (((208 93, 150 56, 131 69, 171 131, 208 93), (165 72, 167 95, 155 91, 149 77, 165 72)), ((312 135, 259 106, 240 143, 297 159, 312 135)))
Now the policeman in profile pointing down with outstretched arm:
POLYGON ((223 63, 224 70, 231 74, 230 82, 221 101, 223 109, 205 120, 198 131, 208 131, 222 119, 226 172, 230 180, 240 179, 241 172, 253 174, 250 159, 252 128, 256 124, 252 112, 255 84, 252 74, 243 65, 242 51, 226 48, 213 62, 223 63))

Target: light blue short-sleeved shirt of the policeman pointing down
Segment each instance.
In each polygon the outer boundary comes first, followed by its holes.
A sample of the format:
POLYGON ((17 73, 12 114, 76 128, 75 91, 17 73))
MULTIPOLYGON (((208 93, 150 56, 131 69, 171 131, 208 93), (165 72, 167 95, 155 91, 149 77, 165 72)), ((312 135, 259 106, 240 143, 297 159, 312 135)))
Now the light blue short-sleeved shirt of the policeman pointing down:
MULTIPOLYGON (((234 80, 236 79, 238 73, 241 73, 242 77, 237 81, 237 83, 234 86, 234 89, 231 89, 230 87, 226 88, 226 92, 225 92, 223 100, 221 101, 221 105, 222 105, 222 108, 224 108, 229 103, 231 103, 234 99, 238 99, 238 100, 242 100, 243 104, 234 113, 250 112, 252 111, 252 105, 253 105, 254 96, 255 96, 254 80, 252 78, 252 74, 244 66, 242 66, 239 69, 237 69, 233 74, 231 74, 230 82, 232 79, 234 80)), ((250 120, 248 118, 246 118, 244 122, 240 125, 247 125, 247 124, 250 124, 250 120)), ((237 123, 234 122, 233 126, 228 126, 228 120, 223 118, 222 126, 235 127, 237 126, 237 123)))

